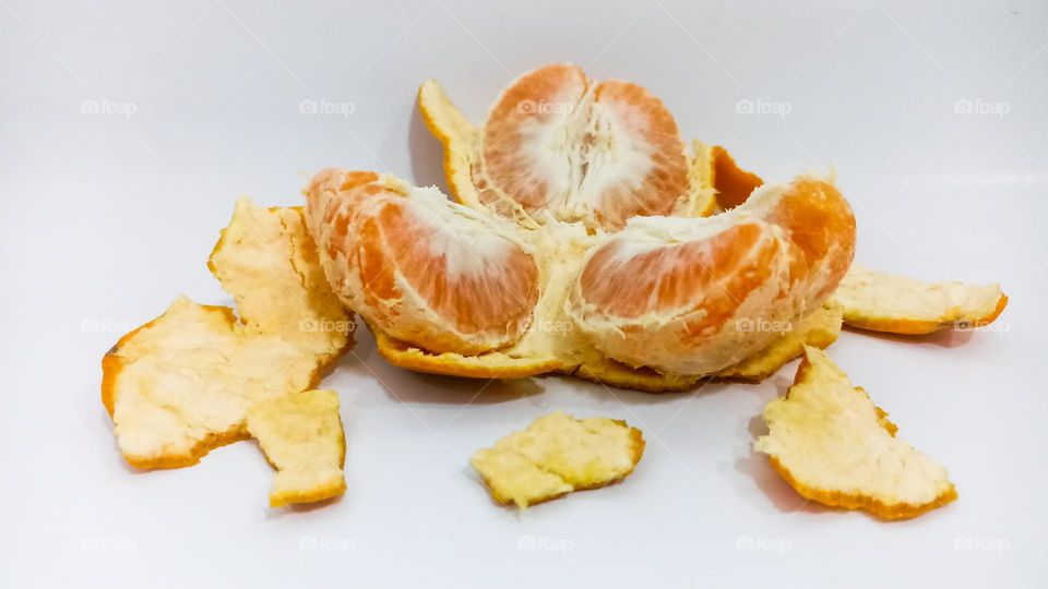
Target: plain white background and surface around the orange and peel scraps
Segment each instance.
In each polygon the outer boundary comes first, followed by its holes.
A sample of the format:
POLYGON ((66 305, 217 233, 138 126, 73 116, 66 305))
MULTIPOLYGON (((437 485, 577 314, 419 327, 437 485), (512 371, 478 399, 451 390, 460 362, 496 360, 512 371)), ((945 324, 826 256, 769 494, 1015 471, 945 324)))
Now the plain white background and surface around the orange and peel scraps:
POLYGON ((0 2, 0 586, 1048 586, 1048 8, 736 4, 0 2), (556 61, 645 85, 765 179, 835 169, 859 261, 1004 286, 993 332, 831 349, 956 503, 896 524, 805 504, 750 449, 794 364, 665 396, 485 383, 392 369, 362 329, 324 382, 341 501, 270 509, 252 443, 122 462, 99 361, 179 293, 229 302, 205 260, 238 194, 300 204, 325 166, 442 183, 418 84, 480 122, 556 61), (612 488, 498 507, 468 456, 557 408, 642 428, 644 459, 612 488))

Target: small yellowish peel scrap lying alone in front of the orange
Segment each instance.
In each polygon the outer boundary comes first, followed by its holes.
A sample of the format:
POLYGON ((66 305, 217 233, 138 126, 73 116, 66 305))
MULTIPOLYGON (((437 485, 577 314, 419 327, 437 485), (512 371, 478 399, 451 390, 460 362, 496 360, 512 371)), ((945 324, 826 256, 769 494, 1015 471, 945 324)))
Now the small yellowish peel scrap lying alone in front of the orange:
POLYGON ((620 481, 643 454, 643 434, 624 421, 557 411, 477 452, 471 464, 496 501, 523 509, 620 481))

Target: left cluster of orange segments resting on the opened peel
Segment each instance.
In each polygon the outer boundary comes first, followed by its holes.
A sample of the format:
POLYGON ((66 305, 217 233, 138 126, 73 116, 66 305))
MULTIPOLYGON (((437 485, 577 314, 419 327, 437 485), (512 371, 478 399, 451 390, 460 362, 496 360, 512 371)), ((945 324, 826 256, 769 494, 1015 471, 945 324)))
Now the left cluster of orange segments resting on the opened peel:
POLYGON ((343 171, 337 182, 310 184, 307 216, 336 292, 393 337, 478 353, 513 342, 531 322, 532 256, 508 230, 436 189, 343 171))

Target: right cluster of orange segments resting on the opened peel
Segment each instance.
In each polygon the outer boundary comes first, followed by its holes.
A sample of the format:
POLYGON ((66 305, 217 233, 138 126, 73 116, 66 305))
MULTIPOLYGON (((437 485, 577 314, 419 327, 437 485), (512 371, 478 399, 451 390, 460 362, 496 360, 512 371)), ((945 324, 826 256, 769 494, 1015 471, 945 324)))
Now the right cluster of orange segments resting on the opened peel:
POLYGON ((855 251, 841 193, 802 177, 706 218, 634 218, 587 259, 568 311, 609 358, 719 371, 822 306, 855 251))

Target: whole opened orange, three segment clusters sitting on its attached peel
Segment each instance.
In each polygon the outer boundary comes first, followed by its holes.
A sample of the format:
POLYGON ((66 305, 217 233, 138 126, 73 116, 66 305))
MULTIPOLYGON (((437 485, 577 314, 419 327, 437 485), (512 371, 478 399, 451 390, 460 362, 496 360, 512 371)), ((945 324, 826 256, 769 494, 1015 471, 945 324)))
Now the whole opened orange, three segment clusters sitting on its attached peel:
POLYGON ((641 86, 526 73, 476 127, 418 92, 454 201, 325 170, 306 216, 335 292, 392 363, 442 374, 559 371, 644 390, 760 380, 825 347, 855 252, 830 180, 765 184, 687 145, 641 86))

